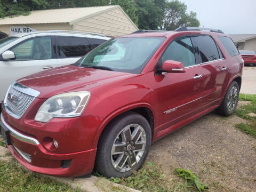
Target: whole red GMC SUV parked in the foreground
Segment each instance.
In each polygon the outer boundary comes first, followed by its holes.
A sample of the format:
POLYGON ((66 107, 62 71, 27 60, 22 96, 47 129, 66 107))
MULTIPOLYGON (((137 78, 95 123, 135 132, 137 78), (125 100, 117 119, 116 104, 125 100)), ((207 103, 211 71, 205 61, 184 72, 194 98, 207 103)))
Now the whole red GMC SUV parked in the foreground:
POLYGON ((2 137, 39 173, 74 177, 95 168, 127 177, 151 142, 214 109, 233 114, 243 65, 220 30, 136 31, 74 65, 14 82, 2 105, 2 137))

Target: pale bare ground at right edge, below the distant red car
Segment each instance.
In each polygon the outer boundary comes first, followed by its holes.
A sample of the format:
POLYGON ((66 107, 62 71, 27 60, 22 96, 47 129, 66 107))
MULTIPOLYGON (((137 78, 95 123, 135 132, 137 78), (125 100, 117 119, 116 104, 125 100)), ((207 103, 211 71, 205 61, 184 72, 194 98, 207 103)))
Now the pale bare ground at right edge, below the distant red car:
POLYGON ((256 94, 256 67, 244 67, 241 93, 256 94))

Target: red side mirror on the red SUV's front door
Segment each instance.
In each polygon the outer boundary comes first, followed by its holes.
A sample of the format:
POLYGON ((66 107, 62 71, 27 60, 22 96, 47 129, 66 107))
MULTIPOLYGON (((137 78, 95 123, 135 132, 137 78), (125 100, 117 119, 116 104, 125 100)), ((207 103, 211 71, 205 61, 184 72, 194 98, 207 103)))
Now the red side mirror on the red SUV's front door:
POLYGON ((185 73, 185 67, 182 62, 166 60, 163 63, 162 72, 167 73, 185 73))

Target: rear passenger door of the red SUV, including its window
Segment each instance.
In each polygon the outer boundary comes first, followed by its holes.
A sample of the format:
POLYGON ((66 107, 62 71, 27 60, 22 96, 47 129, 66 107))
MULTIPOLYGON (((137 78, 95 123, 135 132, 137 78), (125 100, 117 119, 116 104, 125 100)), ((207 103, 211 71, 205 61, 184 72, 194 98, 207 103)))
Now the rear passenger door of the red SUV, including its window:
POLYGON ((221 98, 223 83, 227 76, 227 61, 209 35, 195 35, 196 54, 203 69, 203 104, 214 105, 221 98))

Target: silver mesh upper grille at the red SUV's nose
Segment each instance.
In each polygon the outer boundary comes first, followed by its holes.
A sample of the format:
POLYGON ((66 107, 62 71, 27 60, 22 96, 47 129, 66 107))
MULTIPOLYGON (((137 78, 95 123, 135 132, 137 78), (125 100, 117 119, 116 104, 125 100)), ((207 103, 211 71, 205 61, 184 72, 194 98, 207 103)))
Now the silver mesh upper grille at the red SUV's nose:
POLYGON ((5 107, 18 117, 21 117, 35 97, 17 91, 13 87, 10 87, 9 93, 15 95, 17 100, 13 102, 9 98, 6 98, 5 107))

